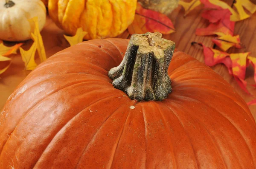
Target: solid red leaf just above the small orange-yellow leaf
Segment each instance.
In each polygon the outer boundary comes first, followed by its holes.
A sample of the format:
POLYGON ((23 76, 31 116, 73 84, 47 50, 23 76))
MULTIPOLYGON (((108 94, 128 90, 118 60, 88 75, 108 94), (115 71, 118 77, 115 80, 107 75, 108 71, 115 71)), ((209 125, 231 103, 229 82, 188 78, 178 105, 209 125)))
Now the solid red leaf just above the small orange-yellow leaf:
POLYGON ((230 11, 227 9, 204 11, 202 17, 209 20, 207 28, 197 28, 195 34, 198 36, 206 35, 231 35, 233 36, 235 23, 230 21, 230 11))

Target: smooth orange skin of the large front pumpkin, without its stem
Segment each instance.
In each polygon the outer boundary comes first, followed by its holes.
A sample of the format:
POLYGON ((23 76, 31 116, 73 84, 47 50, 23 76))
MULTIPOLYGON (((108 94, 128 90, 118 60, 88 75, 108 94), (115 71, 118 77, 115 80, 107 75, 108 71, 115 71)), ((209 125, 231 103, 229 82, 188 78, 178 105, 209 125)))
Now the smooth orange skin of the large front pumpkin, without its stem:
POLYGON ((108 77, 127 45, 82 42, 33 70, 0 114, 0 168, 256 167, 255 121, 221 76, 177 51, 168 98, 131 100, 108 77))

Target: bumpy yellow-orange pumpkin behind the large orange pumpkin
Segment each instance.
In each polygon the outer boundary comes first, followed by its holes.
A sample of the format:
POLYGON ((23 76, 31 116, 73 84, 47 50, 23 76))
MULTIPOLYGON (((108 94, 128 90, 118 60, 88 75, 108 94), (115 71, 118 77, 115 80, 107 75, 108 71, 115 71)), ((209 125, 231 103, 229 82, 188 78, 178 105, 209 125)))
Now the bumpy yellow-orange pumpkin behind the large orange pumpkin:
POLYGON ((103 39, 122 34, 134 20, 137 0, 49 0, 49 16, 65 33, 82 27, 84 39, 103 39))

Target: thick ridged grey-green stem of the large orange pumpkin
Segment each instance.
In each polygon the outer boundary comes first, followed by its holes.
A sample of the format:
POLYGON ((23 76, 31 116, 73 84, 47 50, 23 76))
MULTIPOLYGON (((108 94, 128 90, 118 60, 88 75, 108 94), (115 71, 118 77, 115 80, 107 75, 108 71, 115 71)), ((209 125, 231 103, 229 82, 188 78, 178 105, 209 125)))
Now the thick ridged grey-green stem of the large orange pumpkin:
POLYGON ((159 32, 133 34, 121 64, 108 72, 113 87, 138 101, 165 99, 172 91, 167 70, 174 49, 159 32))

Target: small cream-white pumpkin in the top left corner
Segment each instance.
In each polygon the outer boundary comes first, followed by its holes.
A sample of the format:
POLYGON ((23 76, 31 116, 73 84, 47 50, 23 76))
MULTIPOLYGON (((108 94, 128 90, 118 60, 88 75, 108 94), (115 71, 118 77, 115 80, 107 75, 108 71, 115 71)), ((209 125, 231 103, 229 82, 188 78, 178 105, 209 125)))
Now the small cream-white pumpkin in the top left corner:
POLYGON ((46 21, 46 8, 41 0, 0 0, 0 39, 23 41, 30 39, 28 19, 38 17, 41 31, 46 21))

